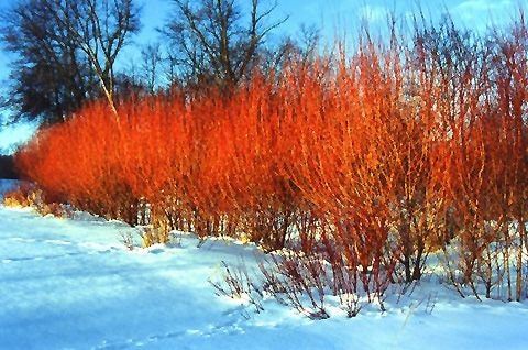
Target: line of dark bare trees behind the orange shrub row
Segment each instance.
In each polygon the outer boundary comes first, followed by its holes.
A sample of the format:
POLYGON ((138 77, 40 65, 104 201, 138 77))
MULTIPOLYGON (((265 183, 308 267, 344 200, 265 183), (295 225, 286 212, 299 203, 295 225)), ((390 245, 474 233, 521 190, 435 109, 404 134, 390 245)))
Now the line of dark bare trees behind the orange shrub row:
POLYGON ((252 0, 172 0, 157 41, 140 46, 135 0, 18 0, 2 14, 0 41, 16 57, 2 105, 15 120, 59 122, 87 101, 155 94, 178 86, 189 91, 230 87, 255 67, 275 69, 293 55, 309 56, 319 41, 314 28, 301 39, 266 42, 287 18, 273 20, 274 3, 252 0), (249 21, 248 21, 249 19, 249 21), (123 48, 135 46, 141 62, 118 69, 123 48))

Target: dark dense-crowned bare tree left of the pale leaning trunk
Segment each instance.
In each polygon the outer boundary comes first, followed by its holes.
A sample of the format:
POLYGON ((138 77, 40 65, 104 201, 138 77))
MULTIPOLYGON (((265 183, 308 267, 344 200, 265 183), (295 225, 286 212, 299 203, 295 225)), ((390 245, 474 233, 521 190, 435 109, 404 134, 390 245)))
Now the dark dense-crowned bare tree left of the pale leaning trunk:
POLYGON ((26 0, 1 17, 0 40, 8 52, 16 54, 11 86, 2 99, 3 107, 16 107, 14 121, 59 121, 100 91, 76 40, 61 30, 47 9, 45 1, 26 0))

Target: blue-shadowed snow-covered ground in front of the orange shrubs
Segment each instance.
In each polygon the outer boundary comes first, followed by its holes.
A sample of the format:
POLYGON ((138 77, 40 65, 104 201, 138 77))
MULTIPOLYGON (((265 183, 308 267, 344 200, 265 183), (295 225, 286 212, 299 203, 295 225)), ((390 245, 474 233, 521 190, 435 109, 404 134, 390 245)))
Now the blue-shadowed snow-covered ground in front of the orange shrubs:
POLYGON ((208 282, 221 261, 255 266, 254 247, 182 234, 129 251, 131 231, 0 206, 0 349, 528 349, 526 303, 462 299, 432 280, 383 314, 309 320, 273 299, 255 314, 208 282))

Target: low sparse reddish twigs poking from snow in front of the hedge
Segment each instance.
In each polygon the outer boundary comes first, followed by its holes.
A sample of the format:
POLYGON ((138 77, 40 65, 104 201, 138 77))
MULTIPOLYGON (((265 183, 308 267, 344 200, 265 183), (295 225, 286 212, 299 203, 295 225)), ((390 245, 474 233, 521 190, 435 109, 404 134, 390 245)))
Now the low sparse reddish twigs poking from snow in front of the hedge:
POLYGON ((371 277, 372 271, 352 269, 337 249, 329 247, 312 253, 271 253, 260 262, 256 277, 250 277, 243 262, 237 267, 222 262, 222 281, 210 282, 217 294, 246 299, 256 310, 263 309, 263 297, 271 296, 310 319, 326 319, 330 317, 327 299, 332 295, 348 317, 358 316, 364 303, 377 302, 384 311, 385 287, 371 277))

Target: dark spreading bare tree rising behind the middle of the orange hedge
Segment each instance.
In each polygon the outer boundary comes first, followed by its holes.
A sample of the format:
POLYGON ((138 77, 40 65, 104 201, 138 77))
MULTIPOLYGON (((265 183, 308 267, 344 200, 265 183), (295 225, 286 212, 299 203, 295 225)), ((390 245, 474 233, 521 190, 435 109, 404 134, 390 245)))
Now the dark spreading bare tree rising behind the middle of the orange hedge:
POLYGON ((251 1, 248 14, 234 0, 173 2, 175 17, 162 32, 176 48, 173 62, 193 83, 238 84, 257 63, 266 35, 286 21, 270 22, 276 3, 262 9, 260 0, 251 1))

